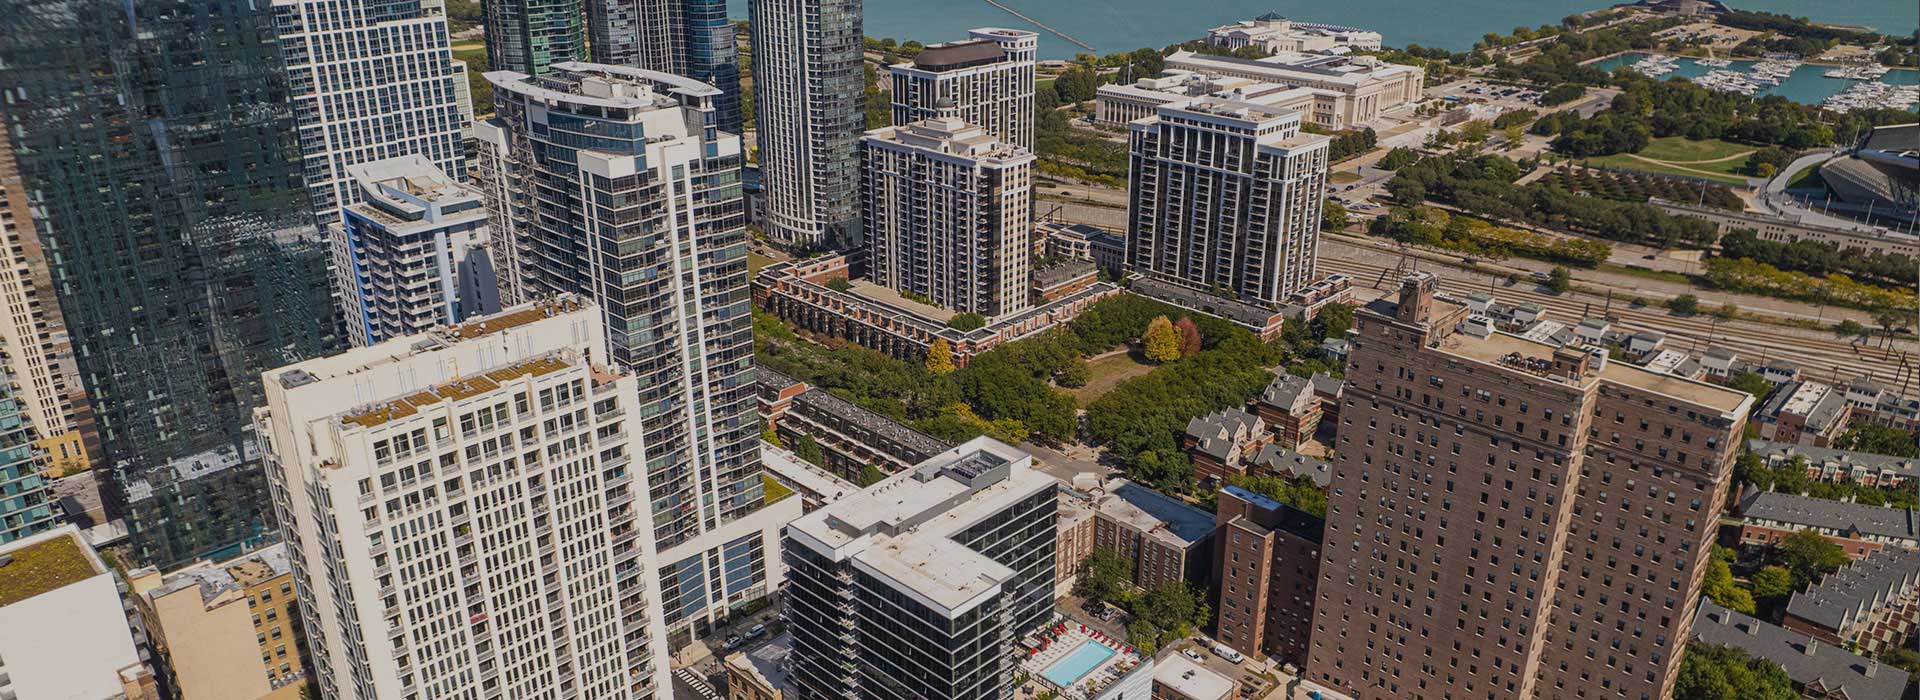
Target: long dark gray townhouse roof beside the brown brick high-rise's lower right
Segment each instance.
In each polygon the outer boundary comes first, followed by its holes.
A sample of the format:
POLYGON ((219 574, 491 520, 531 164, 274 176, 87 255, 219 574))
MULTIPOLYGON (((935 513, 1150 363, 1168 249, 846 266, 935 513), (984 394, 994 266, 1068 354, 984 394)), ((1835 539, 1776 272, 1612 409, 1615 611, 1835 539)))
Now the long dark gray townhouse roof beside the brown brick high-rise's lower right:
POLYGON ((1793 683, 1839 690, 1849 700, 1899 700, 1907 692, 1907 671, 1720 608, 1713 600, 1699 602, 1693 639, 1741 648, 1780 664, 1793 683))

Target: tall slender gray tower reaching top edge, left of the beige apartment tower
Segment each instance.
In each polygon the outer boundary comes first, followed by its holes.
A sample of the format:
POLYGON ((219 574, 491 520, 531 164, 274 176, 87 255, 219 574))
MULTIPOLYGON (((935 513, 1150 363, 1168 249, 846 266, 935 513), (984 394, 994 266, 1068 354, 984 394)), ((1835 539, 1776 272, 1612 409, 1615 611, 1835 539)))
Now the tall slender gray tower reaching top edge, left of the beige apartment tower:
POLYGON ((860 247, 860 0, 749 8, 766 232, 783 245, 860 247))

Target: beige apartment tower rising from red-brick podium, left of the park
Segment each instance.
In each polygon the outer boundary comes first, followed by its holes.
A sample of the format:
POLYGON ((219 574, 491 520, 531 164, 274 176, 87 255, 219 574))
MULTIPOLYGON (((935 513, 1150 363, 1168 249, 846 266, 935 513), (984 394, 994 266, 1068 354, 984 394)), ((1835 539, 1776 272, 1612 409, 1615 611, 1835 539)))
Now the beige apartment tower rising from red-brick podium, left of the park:
POLYGON ((1033 153, 958 119, 862 138, 868 278, 989 318, 1025 311, 1033 153))

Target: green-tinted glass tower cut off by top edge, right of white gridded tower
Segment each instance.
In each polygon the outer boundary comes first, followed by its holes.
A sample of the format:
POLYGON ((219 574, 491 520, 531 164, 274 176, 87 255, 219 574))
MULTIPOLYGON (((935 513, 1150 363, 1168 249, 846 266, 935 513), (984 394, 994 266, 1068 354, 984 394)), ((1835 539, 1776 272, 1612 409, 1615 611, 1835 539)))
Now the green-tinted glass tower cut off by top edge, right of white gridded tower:
POLYGON ((547 73, 547 65, 588 59, 586 0, 484 2, 486 56, 495 71, 547 73))

